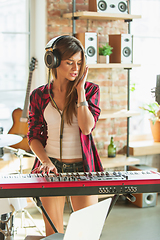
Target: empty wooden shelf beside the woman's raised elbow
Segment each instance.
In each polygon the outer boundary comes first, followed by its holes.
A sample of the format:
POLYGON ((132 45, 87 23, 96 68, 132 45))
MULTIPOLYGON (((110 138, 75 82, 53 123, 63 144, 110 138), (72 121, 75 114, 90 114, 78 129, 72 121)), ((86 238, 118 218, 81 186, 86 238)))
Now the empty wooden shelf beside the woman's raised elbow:
POLYGON ((99 119, 105 120, 106 118, 125 118, 125 117, 132 117, 138 116, 139 113, 135 111, 127 111, 126 109, 121 110, 102 110, 99 119))

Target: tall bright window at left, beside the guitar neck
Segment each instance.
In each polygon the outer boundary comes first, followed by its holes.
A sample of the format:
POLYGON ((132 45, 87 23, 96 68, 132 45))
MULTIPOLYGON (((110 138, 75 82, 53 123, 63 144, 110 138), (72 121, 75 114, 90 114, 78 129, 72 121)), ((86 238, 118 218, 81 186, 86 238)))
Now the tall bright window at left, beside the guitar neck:
POLYGON ((11 113, 23 109, 29 59, 27 0, 0 1, 0 126, 12 126, 11 113))

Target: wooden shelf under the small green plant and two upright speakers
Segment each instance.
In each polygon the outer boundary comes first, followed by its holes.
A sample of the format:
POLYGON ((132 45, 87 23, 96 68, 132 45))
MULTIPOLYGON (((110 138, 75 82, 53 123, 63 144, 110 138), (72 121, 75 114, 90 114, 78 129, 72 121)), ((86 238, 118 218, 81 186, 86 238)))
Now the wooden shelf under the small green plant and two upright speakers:
POLYGON ((131 69, 133 67, 140 67, 140 64, 122 64, 122 63, 97 63, 97 64, 87 64, 89 68, 126 68, 131 69))

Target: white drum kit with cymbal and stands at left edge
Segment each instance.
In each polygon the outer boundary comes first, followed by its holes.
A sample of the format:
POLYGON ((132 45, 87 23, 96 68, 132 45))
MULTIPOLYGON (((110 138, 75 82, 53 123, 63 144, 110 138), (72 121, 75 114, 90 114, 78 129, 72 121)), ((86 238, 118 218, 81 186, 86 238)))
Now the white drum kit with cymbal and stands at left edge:
MULTIPOLYGON (((22 159, 23 156, 34 157, 33 154, 28 153, 22 149, 15 149, 9 146, 17 144, 22 141, 22 137, 16 134, 0 134, 0 148, 8 149, 14 152, 20 160, 19 173, 22 173, 22 159)), ((13 215, 19 210, 23 210, 28 215, 30 220, 34 223, 33 218, 24 209, 27 206, 27 200, 25 198, 4 198, 0 199, 0 240, 12 240, 13 238, 13 215)), ((35 223, 34 223, 35 224, 35 223)), ((36 226, 37 227, 37 226, 36 226)), ((38 227, 37 227, 38 228, 38 227)), ((41 231, 40 229, 38 229, 41 231)), ((42 232, 41 232, 42 233, 42 232)))

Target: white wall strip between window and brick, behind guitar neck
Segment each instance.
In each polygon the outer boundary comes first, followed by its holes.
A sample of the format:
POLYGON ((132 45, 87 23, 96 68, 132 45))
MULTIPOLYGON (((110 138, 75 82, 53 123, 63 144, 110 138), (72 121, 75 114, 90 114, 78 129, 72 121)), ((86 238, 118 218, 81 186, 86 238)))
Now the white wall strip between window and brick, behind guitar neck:
POLYGON ((38 60, 33 72, 31 90, 47 82, 44 54, 46 46, 46 0, 31 0, 31 52, 38 60))

